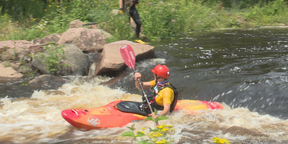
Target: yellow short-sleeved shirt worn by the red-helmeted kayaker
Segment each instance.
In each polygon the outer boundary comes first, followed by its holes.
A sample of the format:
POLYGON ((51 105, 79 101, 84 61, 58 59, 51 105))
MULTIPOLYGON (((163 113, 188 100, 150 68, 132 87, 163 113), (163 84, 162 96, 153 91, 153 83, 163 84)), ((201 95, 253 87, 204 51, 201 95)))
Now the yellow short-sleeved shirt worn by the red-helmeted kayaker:
MULTIPOLYGON (((150 81, 151 88, 155 85, 155 81, 152 80, 150 81)), ((158 105, 164 106, 164 103, 172 104, 174 99, 174 91, 171 88, 163 88, 160 90, 156 96, 155 96, 155 101, 158 105)))

